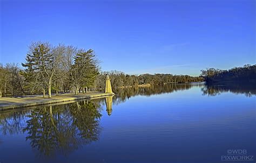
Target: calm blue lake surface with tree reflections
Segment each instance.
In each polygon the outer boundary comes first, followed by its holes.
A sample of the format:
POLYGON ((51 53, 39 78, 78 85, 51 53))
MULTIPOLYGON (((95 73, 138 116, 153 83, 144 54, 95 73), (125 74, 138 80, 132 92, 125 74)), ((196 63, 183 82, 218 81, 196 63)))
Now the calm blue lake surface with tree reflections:
POLYGON ((4 112, 0 162, 223 162, 230 149, 255 162, 255 95, 255 86, 169 84, 4 112))

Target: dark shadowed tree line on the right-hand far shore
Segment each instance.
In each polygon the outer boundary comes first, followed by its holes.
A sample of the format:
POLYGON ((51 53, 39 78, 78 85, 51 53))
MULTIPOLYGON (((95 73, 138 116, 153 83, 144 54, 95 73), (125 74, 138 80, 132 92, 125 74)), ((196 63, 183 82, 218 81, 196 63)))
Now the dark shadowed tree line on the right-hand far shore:
POLYGON ((243 67, 234 67, 228 70, 208 68, 201 70, 201 76, 206 83, 218 82, 255 82, 256 65, 244 65, 243 67))

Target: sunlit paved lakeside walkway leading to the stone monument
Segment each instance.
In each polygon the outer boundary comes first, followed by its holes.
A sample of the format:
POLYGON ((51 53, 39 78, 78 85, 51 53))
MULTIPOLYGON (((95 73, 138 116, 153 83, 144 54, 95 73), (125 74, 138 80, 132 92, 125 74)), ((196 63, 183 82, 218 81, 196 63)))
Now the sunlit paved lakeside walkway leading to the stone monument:
POLYGON ((111 96, 110 93, 99 93, 99 92, 87 92, 85 94, 59 94, 58 96, 52 96, 52 98, 43 96, 25 96, 25 97, 1 97, 0 98, 0 111, 15 110, 29 107, 36 107, 40 105, 48 105, 54 103, 62 103, 83 99, 91 99, 97 97, 111 96))

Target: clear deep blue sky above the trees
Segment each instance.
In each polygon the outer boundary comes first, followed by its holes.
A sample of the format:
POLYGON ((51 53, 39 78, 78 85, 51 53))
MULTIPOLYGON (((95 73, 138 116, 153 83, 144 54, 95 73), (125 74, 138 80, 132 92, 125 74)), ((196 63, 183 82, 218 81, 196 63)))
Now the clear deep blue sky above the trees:
POLYGON ((199 75, 255 64, 256 1, 1 2, 0 62, 32 41, 95 50, 102 70, 199 75))

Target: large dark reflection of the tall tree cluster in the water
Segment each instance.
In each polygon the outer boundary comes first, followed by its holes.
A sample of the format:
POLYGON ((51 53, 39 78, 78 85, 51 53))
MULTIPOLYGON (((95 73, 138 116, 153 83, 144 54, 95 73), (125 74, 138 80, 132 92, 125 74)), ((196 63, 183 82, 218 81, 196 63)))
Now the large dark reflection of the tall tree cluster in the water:
POLYGON ((101 116, 91 101, 37 108, 31 111, 23 131, 39 153, 47 157, 56 152, 67 155, 98 140, 101 116))

